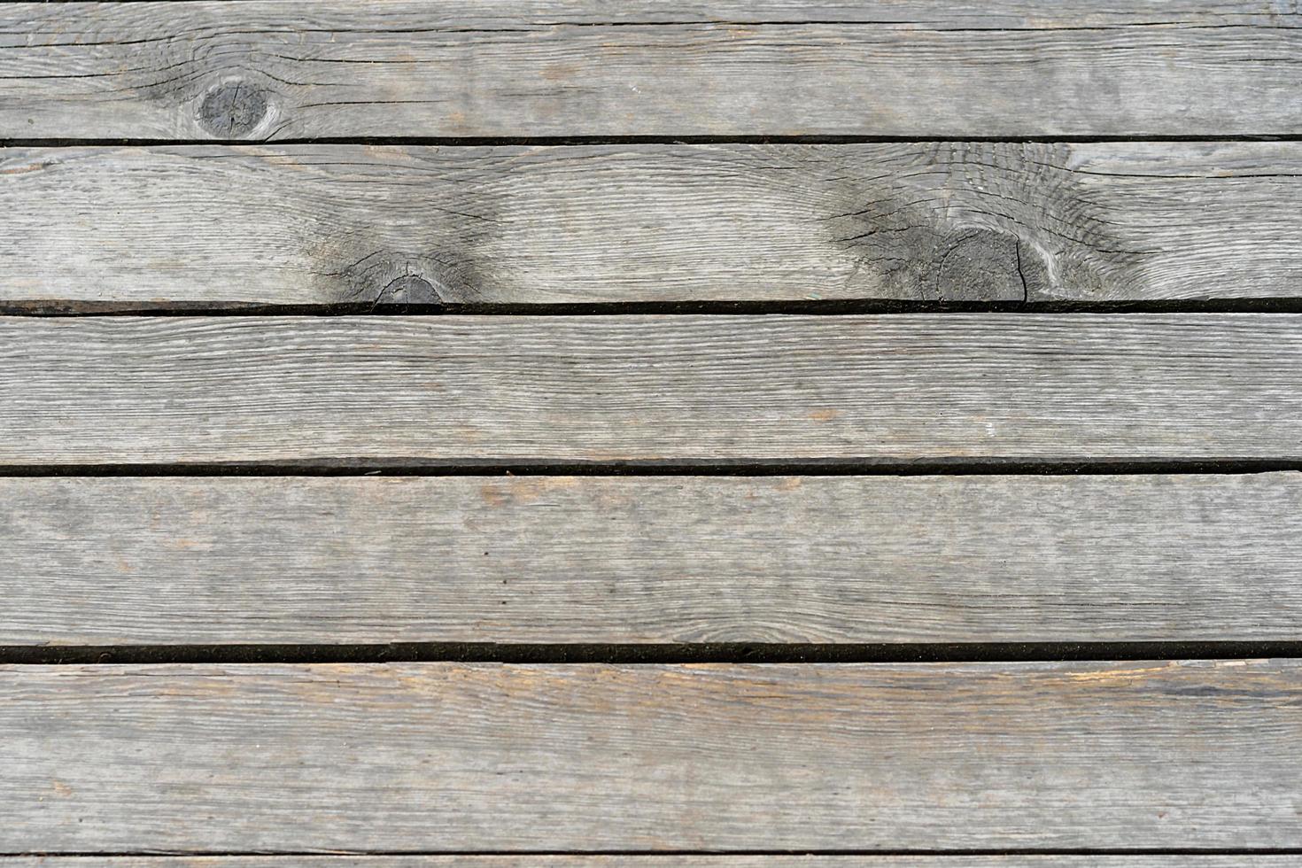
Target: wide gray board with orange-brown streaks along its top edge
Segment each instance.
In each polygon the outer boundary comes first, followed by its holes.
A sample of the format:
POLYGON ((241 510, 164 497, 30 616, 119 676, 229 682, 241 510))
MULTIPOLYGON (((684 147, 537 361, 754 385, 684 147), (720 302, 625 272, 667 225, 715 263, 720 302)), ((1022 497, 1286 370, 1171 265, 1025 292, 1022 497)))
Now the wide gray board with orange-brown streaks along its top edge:
POLYGON ((1302 661, 0 669, 0 851, 1302 846, 1302 661))

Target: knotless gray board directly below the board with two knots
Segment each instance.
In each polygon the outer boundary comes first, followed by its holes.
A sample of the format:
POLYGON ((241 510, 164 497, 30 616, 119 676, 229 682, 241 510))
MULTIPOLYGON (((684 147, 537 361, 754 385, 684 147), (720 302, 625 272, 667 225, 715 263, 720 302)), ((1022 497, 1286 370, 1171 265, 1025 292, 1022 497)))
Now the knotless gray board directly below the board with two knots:
POLYGON ((0 463, 1297 459, 1298 324, 0 318, 0 463))

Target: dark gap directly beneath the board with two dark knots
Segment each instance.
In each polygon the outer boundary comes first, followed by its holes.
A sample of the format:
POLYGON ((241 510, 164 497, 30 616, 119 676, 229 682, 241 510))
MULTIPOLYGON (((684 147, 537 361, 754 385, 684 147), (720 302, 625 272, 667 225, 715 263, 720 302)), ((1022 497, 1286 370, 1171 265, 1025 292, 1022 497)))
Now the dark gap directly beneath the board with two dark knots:
POLYGON ((370 305, 259 302, 0 302, 3 316, 840 316, 892 314, 1302 314, 1302 297, 1113 302, 936 302, 904 299, 370 305))

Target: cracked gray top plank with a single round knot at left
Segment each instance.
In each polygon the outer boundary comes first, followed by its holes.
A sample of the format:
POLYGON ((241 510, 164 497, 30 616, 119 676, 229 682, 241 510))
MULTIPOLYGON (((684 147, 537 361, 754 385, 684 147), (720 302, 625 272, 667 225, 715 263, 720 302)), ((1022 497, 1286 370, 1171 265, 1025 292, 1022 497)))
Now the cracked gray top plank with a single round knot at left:
POLYGON ((1297 134, 1295 4, 0 5, 0 137, 1297 134))

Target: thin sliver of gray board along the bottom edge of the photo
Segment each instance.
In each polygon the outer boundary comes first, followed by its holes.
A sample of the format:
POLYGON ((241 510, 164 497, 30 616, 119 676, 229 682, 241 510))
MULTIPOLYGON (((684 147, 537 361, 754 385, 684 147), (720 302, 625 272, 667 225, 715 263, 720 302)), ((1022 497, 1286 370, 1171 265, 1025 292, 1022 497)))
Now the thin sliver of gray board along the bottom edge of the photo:
POLYGON ((4 868, 1295 868, 1294 855, 1180 856, 0 856, 4 868))

